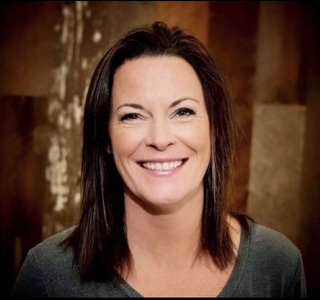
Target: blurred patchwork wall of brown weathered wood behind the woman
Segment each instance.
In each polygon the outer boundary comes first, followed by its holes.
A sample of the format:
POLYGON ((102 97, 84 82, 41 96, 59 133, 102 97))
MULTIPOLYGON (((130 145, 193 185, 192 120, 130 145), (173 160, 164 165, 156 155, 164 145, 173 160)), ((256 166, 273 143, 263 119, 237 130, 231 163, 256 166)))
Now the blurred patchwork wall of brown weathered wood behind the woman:
POLYGON ((202 40, 228 78, 241 132, 236 203, 302 251, 320 295, 319 10, 308 1, 2 1, 0 272, 77 222, 90 76, 128 29, 155 20, 202 40))

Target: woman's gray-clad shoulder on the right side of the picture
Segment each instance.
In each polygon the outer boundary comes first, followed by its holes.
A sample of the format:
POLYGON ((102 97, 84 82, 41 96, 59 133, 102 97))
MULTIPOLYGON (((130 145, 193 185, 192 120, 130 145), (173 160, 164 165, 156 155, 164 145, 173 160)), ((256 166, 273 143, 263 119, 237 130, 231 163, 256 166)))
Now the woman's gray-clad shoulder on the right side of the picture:
POLYGON ((221 296, 292 297, 306 294, 302 255, 283 233, 240 218, 241 243, 233 274, 221 296))

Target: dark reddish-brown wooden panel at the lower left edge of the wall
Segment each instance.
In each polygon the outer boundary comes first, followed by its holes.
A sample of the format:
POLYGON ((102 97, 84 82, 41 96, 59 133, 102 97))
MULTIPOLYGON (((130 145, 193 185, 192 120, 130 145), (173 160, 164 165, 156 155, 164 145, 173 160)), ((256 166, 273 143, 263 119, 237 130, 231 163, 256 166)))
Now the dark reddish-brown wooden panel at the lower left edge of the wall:
POLYGON ((0 97, 0 269, 6 296, 27 251, 42 240, 48 201, 47 99, 0 97))

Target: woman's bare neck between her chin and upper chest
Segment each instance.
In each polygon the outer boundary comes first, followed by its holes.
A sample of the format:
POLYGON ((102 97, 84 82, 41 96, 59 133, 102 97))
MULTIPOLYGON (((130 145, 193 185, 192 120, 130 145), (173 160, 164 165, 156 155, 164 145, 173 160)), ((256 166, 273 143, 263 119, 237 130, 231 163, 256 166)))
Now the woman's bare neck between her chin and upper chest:
POLYGON ((179 208, 146 209, 125 200, 127 238, 134 260, 179 264, 195 259, 199 250, 203 198, 185 201, 179 208))

